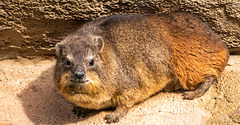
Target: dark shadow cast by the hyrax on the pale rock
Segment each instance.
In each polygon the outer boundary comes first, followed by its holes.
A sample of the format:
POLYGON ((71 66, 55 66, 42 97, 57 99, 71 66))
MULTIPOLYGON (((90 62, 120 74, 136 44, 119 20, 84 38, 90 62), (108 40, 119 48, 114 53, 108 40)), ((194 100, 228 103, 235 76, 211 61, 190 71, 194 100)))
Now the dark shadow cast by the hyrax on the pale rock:
POLYGON ((53 81, 53 66, 29 84, 19 95, 29 119, 35 124, 66 124, 85 120, 73 114, 74 105, 65 100, 56 90, 53 81))

